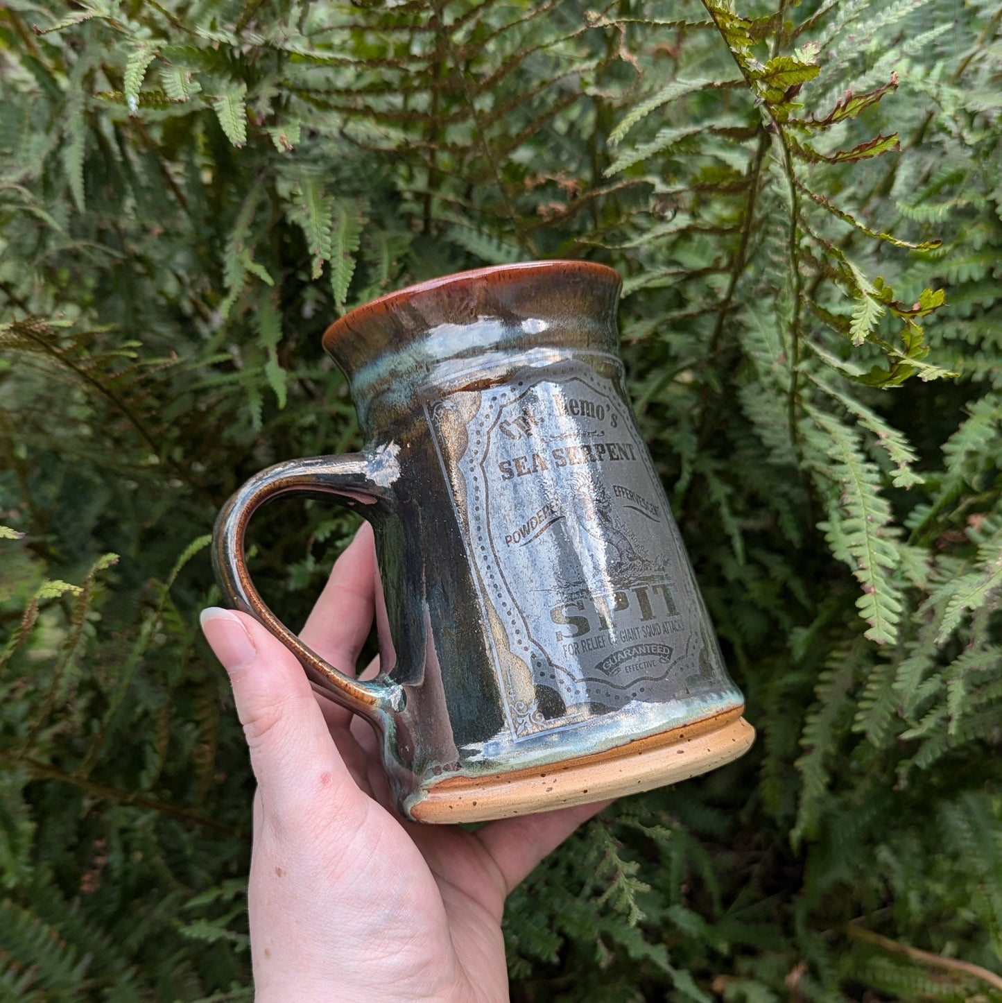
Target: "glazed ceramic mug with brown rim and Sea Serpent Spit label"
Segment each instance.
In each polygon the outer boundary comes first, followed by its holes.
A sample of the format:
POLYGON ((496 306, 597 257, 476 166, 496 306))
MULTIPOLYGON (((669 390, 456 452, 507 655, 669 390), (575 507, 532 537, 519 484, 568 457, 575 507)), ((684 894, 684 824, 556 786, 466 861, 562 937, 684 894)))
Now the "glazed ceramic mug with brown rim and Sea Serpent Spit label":
POLYGON ((220 514, 224 594, 367 718, 398 810, 476 821, 645 790, 743 753, 727 676, 634 424, 620 278, 586 262, 485 268, 348 313, 324 335, 361 452, 279 463, 220 514), (244 559, 262 503, 300 491, 375 531, 381 670, 328 664, 244 559))

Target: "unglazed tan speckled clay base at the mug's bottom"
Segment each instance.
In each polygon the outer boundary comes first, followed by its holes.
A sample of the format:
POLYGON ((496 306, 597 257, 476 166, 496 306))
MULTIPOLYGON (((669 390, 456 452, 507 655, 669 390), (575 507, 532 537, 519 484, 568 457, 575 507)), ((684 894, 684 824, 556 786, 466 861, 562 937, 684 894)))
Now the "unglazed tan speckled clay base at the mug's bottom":
POLYGON ((557 766, 499 776, 453 776, 410 807, 418 821, 484 821, 621 797, 688 779, 748 750, 755 729, 731 711, 557 766))

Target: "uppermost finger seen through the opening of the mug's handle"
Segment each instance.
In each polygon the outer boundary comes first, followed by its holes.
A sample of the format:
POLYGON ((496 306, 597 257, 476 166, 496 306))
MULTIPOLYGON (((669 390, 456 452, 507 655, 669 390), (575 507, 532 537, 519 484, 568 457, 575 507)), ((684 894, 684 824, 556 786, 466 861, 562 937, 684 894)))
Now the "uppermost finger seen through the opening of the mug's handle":
POLYGON ((372 627, 375 581, 372 527, 362 523, 355 539, 334 562, 324 591, 299 635, 346 675, 355 675, 355 663, 372 627))

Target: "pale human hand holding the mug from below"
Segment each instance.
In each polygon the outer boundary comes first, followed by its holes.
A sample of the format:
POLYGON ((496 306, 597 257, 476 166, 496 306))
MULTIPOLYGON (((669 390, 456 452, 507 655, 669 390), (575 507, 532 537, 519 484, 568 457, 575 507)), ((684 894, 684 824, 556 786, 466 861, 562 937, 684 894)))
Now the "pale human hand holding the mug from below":
MULTIPOLYGON (((375 581, 363 524, 302 632, 332 664, 355 665, 375 581)), ((314 695, 252 617, 210 609, 203 629, 230 673, 258 780, 248 889, 258 1003, 507 1000, 505 898, 604 805, 474 832, 403 821, 366 721, 314 695)))

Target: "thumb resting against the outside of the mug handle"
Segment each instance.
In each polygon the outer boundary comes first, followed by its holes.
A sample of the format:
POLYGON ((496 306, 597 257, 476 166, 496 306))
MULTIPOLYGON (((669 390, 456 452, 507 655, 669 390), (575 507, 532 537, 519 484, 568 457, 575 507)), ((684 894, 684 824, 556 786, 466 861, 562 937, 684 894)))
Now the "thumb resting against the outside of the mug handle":
POLYGON ((273 821, 316 817, 362 796, 295 656, 245 613, 210 607, 206 640, 230 675, 262 806, 273 821))

